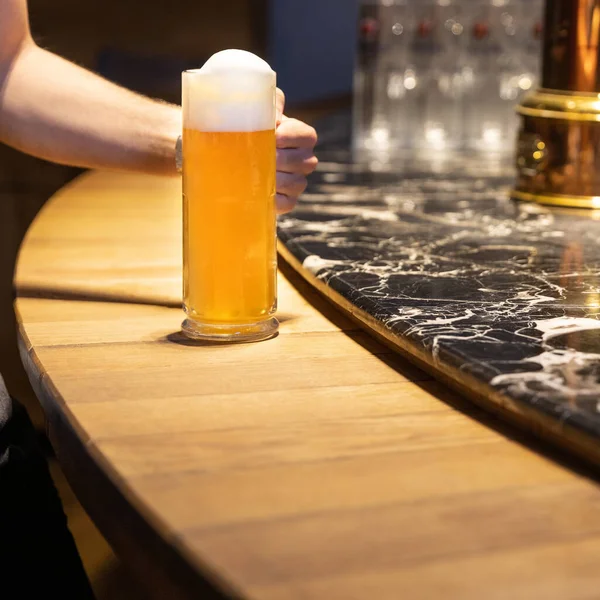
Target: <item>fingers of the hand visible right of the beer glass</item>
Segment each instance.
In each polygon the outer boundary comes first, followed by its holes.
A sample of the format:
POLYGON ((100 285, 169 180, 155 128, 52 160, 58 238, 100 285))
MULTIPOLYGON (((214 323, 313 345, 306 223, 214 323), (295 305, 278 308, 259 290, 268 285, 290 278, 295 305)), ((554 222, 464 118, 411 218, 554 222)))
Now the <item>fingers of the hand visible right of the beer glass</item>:
POLYGON ((277 90, 277 212, 290 212, 306 189, 306 176, 318 164, 314 155, 317 132, 302 121, 283 114, 285 96, 277 90))

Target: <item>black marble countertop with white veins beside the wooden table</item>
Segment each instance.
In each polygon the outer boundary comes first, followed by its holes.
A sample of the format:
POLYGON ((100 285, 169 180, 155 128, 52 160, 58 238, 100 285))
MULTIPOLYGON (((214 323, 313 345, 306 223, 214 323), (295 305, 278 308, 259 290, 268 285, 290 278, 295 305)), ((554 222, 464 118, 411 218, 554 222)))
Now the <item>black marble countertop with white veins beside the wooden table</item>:
POLYGON ((434 372, 600 463, 600 212, 512 201, 500 159, 353 162, 347 132, 322 130, 287 253, 434 372))

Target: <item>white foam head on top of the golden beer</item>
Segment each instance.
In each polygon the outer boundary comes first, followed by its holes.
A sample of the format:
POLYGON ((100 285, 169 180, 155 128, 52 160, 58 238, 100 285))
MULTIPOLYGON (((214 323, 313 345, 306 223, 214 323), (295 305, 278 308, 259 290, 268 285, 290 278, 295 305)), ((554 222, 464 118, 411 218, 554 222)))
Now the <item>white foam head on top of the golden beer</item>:
POLYGON ((184 126, 197 131, 275 128, 276 75, 258 56, 223 50, 183 77, 184 126))

